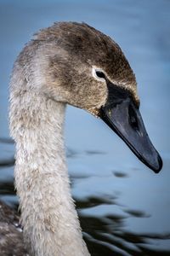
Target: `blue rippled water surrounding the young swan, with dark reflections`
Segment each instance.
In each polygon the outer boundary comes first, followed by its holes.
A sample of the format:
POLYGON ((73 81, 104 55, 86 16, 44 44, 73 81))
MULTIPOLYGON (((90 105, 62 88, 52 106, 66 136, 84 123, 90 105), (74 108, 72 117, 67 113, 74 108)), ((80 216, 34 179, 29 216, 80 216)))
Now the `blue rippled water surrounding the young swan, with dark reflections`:
POLYGON ((0 2, 0 195, 17 206, 14 144, 8 136, 8 80, 16 55, 39 28, 85 21, 114 38, 133 67, 141 113, 164 162, 145 167, 99 119, 67 109, 65 137, 72 194, 92 255, 170 255, 170 2, 0 2))

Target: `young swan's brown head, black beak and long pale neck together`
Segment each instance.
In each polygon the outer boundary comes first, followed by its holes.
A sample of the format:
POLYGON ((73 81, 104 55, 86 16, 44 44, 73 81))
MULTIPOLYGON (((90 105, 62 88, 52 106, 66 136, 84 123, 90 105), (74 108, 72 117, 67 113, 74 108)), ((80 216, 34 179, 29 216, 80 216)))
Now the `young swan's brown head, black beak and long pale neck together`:
POLYGON ((10 83, 14 177, 31 255, 89 255, 65 164, 66 104, 104 119, 140 160, 161 170, 139 113, 133 71, 119 46, 84 23, 42 29, 15 61, 10 83))

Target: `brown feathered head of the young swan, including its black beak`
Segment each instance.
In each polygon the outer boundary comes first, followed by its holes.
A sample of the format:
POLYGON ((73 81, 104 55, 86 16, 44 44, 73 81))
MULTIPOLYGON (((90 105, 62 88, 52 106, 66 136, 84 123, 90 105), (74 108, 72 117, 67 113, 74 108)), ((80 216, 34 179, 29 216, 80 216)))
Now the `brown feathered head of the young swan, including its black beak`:
POLYGON ((76 22, 55 23, 35 39, 48 58, 42 61, 48 96, 103 119, 139 160, 159 172, 161 157, 145 131, 136 79, 122 49, 102 32, 76 22))

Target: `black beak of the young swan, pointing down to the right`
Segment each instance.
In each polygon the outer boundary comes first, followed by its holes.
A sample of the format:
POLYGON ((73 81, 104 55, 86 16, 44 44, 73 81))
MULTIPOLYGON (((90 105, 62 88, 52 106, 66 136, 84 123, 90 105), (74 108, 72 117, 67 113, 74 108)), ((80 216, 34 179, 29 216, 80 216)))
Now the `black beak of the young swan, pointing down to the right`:
POLYGON ((109 83, 109 96, 100 117, 122 138, 127 146, 146 166, 160 172, 161 156, 150 142, 139 108, 127 90, 109 83))

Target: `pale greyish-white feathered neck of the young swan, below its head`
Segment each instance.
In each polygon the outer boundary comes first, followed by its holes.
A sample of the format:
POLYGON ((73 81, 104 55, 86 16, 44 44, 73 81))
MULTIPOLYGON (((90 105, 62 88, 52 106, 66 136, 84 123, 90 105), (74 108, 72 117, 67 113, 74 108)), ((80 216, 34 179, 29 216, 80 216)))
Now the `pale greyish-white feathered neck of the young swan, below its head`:
POLYGON ((62 103, 36 93, 12 96, 15 185, 31 255, 89 255, 71 198, 65 165, 64 119, 62 103))

